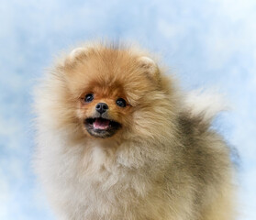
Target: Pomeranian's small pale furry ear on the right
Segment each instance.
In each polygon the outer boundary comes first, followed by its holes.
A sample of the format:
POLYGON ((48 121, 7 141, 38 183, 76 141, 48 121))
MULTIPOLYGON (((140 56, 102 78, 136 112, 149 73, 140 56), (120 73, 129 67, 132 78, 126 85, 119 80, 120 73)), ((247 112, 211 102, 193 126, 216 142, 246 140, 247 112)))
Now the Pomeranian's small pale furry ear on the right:
POLYGON ((151 79, 155 81, 159 80, 160 71, 154 60, 146 56, 139 57, 139 65, 151 79))

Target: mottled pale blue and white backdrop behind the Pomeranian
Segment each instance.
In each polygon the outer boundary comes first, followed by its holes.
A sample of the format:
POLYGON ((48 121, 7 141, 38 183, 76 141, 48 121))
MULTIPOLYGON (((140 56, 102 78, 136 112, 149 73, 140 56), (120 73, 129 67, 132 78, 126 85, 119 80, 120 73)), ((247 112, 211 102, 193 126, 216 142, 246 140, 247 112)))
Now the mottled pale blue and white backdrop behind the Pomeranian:
POLYGON ((31 90, 54 55, 95 38, 136 41, 185 90, 226 94, 215 126, 239 150, 239 219, 255 220, 255 0, 0 0, 0 219, 54 219, 30 165, 31 90))

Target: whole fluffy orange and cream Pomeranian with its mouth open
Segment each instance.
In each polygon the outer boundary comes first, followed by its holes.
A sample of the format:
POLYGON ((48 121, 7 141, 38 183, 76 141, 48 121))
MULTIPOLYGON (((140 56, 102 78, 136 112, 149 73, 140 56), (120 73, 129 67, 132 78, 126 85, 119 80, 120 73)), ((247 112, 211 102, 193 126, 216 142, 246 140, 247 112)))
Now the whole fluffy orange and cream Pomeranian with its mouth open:
POLYGON ((221 105, 185 94, 147 52, 89 44, 35 94, 36 169, 58 219, 231 220, 221 105))

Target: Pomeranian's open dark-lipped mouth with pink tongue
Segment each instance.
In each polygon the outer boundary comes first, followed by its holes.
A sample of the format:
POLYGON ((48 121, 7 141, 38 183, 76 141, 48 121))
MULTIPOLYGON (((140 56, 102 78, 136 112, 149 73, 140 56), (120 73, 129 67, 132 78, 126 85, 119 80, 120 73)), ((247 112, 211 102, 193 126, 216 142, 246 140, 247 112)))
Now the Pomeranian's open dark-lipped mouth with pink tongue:
POLYGON ((103 117, 89 117, 84 120, 88 133, 94 137, 111 137, 116 134, 121 125, 103 117))

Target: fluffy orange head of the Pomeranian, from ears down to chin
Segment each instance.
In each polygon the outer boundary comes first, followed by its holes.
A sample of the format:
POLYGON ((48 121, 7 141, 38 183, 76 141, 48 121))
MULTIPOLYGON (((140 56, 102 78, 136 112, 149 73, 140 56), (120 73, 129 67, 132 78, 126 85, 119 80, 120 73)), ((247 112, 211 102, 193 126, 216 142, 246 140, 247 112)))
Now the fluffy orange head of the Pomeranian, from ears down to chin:
POLYGON ((147 109, 152 112, 159 69, 148 57, 120 49, 76 49, 63 70, 85 135, 106 138, 128 132, 149 116, 147 109))

